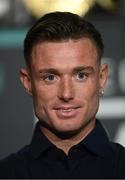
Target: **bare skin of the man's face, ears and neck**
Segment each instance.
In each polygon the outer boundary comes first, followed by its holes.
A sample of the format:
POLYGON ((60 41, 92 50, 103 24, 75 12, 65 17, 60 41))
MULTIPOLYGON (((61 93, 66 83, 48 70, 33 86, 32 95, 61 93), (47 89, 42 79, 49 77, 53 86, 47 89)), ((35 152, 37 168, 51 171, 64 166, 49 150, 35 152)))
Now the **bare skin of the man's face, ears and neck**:
POLYGON ((94 128, 107 74, 88 38, 39 43, 32 50, 30 71, 21 70, 41 131, 66 154, 94 128))

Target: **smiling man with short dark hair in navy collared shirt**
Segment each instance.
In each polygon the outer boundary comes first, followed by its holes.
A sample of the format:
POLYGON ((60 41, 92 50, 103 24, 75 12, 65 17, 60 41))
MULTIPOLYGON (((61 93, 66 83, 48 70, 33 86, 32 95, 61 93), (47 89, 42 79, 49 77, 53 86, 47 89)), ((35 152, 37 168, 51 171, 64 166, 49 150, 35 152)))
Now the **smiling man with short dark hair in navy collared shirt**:
POLYGON ((1 178, 125 178, 125 149, 96 119, 102 54, 101 35, 76 14, 46 14, 29 30, 20 77, 39 122, 31 144, 0 162, 1 178))

